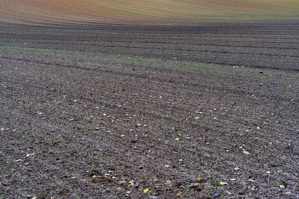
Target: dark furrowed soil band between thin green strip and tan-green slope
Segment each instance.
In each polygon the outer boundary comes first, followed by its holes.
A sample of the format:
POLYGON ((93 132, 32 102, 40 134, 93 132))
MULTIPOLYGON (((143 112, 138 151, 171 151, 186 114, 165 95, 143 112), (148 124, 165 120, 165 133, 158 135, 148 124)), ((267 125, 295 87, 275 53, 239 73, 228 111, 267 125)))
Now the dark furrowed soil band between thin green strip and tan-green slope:
POLYGON ((182 61, 299 71, 299 22, 55 27, 2 22, 0 25, 0 46, 176 57, 182 61))

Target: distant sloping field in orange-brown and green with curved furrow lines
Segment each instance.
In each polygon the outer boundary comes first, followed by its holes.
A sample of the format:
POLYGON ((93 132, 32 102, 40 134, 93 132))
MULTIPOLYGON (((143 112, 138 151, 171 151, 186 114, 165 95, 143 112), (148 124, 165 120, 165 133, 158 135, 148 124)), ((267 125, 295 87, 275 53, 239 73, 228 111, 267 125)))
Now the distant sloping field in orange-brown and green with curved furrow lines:
POLYGON ((297 20, 298 0, 2 0, 0 21, 18 24, 297 20))

